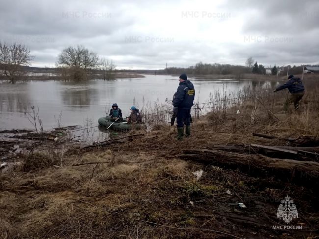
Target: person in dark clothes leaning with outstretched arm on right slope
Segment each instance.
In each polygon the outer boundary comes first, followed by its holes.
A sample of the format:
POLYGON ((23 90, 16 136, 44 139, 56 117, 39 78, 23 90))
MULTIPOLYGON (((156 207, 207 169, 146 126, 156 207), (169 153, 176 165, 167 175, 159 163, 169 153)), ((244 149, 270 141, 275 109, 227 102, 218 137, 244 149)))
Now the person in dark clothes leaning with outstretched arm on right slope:
POLYGON ((297 110, 299 108, 299 101, 305 94, 305 87, 303 86, 303 83, 299 77, 289 75, 288 79, 289 80, 285 84, 277 87, 274 92, 288 88, 290 95, 286 99, 284 110, 288 111, 289 105, 291 103, 294 105, 294 110, 297 110))

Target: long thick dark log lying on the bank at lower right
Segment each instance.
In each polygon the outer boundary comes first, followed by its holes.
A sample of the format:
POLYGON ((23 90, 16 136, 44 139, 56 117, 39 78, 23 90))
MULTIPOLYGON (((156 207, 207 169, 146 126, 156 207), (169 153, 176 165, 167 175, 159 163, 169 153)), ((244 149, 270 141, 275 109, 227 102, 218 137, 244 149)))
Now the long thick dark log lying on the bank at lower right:
POLYGON ((275 176, 307 187, 319 184, 319 163, 290 159, 275 159, 262 155, 231 153, 220 150, 186 149, 181 159, 239 168, 256 176, 275 176))

